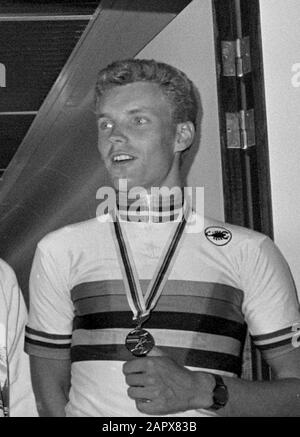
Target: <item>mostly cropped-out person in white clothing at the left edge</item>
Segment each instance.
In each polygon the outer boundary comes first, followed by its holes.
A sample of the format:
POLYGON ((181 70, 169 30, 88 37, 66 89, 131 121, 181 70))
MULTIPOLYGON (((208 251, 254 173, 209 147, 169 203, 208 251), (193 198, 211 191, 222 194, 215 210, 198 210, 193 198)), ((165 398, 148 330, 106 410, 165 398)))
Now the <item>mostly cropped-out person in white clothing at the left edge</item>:
POLYGON ((23 350, 26 322, 16 276, 0 260, 0 417, 37 416, 29 359, 23 350))

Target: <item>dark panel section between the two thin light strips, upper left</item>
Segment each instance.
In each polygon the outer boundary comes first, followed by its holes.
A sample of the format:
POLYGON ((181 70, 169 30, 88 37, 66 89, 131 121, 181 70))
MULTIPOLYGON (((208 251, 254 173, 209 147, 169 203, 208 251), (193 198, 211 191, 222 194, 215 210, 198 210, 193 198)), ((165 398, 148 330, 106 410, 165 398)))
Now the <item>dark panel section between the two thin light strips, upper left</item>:
POLYGON ((6 87, 0 90, 0 112, 39 109, 86 25, 77 20, 1 22, 6 87))

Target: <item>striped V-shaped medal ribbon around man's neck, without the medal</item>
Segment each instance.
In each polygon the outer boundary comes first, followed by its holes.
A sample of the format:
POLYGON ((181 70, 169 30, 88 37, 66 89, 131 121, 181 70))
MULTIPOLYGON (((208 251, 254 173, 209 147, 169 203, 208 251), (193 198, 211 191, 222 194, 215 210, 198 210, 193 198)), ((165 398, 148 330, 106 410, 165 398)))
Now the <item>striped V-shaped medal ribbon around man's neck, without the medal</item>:
POLYGON ((133 320, 137 320, 140 326, 150 315, 151 310, 157 304, 157 301, 163 291, 164 285, 168 279, 171 268, 175 262, 175 253, 180 242, 186 225, 186 213, 188 207, 185 204, 182 217, 178 223, 175 232, 171 233, 168 242, 160 257, 158 267, 155 274, 147 287, 145 296, 143 296, 142 288, 138 278, 137 270, 133 260, 130 246, 126 238, 126 234, 122 232, 121 224, 116 215, 114 221, 114 230, 117 239, 119 256, 121 258, 121 269, 123 280, 126 289, 127 300, 133 312, 133 320))

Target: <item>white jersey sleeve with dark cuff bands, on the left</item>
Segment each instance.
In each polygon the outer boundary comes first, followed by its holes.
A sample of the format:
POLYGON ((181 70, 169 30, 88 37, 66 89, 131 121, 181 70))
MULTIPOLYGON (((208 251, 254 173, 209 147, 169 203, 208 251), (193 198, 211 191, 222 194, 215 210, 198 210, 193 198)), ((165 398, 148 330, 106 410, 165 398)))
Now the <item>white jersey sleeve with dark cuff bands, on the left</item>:
POLYGON ((25 350, 31 355, 69 359, 73 304, 68 263, 59 249, 39 243, 30 274, 30 310, 25 350))

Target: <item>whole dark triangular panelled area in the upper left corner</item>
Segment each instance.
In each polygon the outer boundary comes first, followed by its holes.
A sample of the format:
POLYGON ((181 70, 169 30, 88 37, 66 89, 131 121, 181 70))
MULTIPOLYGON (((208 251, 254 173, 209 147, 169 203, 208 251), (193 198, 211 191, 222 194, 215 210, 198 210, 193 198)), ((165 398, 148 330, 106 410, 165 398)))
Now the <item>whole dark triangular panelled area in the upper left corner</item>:
POLYGON ((0 179, 99 4, 1 0, 0 179))

